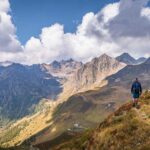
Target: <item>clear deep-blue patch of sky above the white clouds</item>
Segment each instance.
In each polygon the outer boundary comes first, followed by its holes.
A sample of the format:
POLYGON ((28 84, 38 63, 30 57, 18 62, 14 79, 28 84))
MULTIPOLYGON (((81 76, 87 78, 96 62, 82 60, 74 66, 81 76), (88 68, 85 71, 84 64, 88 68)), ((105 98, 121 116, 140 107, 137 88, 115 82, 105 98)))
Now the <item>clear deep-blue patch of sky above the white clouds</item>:
POLYGON ((17 36, 25 44, 31 36, 37 37, 43 27, 56 22, 65 32, 74 32, 87 12, 98 12, 108 3, 118 0, 10 0, 11 15, 17 36))

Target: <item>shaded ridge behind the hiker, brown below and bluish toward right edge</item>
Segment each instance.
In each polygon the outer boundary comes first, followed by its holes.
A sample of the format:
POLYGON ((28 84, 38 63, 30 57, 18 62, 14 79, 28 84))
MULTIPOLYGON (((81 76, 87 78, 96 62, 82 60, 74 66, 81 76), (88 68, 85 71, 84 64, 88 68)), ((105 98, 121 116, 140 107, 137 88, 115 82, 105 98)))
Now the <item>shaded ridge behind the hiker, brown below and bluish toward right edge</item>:
POLYGON ((143 89, 150 88, 149 68, 150 59, 139 65, 127 65, 106 77, 107 84, 103 87, 71 96, 57 107, 53 117, 54 125, 36 137, 37 143, 46 142, 45 135, 49 140, 53 136, 60 136, 60 133, 63 134, 75 122, 85 127, 95 127, 111 112, 131 100, 130 88, 135 77, 141 79, 143 89), (50 132, 54 127, 57 132, 50 132))

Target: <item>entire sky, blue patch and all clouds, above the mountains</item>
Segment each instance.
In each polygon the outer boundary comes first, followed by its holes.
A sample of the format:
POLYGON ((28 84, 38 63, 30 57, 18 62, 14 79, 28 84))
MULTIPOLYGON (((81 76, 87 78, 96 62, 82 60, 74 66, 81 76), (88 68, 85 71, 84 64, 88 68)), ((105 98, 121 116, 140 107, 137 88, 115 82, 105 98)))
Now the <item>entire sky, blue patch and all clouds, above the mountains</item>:
POLYGON ((149 0, 0 0, 0 61, 150 54, 149 0))

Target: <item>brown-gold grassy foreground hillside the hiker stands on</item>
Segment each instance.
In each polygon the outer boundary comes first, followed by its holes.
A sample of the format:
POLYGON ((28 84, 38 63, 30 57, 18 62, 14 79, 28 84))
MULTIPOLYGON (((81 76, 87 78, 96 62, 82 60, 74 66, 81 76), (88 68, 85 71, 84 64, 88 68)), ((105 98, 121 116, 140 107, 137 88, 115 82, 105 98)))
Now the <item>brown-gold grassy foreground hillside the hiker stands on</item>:
MULTIPOLYGON (((140 99, 140 108, 131 103, 121 106, 97 129, 84 133, 53 150, 149 150, 150 148, 150 92, 140 99)), ((44 149, 41 149, 44 150, 44 149)))

